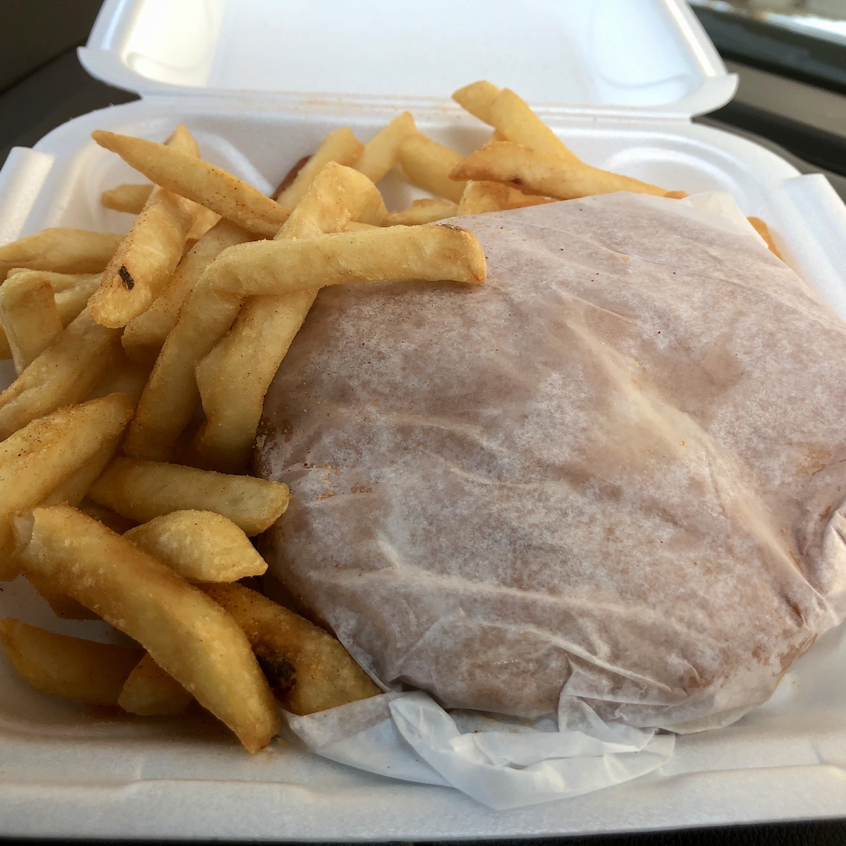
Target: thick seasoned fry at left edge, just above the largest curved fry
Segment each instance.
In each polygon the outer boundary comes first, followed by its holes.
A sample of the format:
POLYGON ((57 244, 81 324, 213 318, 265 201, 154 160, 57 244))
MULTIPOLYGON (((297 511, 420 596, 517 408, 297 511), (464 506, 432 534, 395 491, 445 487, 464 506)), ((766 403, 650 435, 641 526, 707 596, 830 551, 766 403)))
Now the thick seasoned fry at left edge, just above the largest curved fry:
POLYGON ((122 394, 59 409, 0 443, 0 580, 14 578, 11 518, 33 508, 80 468, 114 448, 132 415, 122 394))

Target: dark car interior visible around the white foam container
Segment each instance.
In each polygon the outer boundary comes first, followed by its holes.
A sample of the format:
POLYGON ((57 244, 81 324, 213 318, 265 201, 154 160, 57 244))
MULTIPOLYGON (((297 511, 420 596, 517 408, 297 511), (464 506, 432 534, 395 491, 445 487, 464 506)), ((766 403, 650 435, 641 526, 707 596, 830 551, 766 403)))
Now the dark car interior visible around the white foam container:
MULTIPOLYGON (((13 146, 32 146, 70 118, 135 99, 126 91, 92 80, 76 58, 76 47, 85 44, 100 3, 0 0, 0 162, 13 146)), ((846 48, 785 35, 758 21, 729 14, 711 10, 697 10, 697 14, 728 60, 729 69, 739 73, 741 80, 732 103, 698 119, 752 137, 788 158, 803 173, 827 173, 846 199, 846 48)), ((846 783, 843 789, 846 791, 846 783)), ((592 838, 476 841, 519 842, 536 846, 846 846, 846 820, 592 838)), ((49 841, 8 839, 3 843, 49 841)))

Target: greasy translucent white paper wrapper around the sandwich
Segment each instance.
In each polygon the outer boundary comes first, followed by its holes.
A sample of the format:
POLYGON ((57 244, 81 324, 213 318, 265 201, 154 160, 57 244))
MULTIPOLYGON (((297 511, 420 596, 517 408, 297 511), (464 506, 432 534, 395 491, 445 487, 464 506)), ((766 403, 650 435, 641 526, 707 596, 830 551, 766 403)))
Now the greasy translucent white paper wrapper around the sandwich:
POLYGON ((505 808, 656 769, 843 618, 846 327, 727 195, 460 222, 484 293, 321 294, 259 470, 274 573, 397 691, 292 731, 505 808))

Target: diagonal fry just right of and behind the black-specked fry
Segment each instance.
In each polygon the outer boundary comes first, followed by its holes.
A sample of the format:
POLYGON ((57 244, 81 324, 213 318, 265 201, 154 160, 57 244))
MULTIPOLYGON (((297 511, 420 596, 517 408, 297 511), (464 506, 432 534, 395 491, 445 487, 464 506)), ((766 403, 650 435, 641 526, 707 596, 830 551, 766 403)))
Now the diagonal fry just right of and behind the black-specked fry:
POLYGON ((179 262, 162 294, 144 314, 127 324, 121 343, 129 358, 152 364, 176 325, 179 308, 194 289, 201 272, 227 247, 252 239, 245 229, 225 219, 203 235, 179 262))

